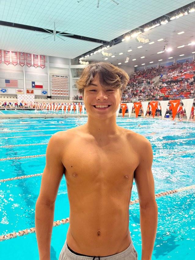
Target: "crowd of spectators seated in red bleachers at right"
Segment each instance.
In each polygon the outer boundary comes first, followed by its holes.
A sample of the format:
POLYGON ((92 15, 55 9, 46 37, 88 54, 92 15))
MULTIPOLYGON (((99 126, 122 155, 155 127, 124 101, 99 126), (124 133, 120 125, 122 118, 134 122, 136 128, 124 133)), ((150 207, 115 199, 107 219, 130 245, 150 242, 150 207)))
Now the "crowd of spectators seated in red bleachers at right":
POLYGON ((161 100, 168 98, 195 97, 195 61, 177 63, 171 66, 149 68, 134 72, 129 84, 122 94, 121 101, 161 100), (159 76, 156 84, 152 79, 159 76))

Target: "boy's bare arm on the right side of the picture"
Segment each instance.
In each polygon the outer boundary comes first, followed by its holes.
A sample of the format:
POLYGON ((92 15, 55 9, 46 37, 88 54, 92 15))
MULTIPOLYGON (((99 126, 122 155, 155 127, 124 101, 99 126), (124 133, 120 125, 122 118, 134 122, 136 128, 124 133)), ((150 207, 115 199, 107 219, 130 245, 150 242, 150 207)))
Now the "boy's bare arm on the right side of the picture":
POLYGON ((139 146, 140 163, 134 179, 140 204, 140 227, 142 236, 142 260, 151 260, 158 222, 158 208, 155 199, 152 174, 153 152, 150 142, 141 137, 139 146))

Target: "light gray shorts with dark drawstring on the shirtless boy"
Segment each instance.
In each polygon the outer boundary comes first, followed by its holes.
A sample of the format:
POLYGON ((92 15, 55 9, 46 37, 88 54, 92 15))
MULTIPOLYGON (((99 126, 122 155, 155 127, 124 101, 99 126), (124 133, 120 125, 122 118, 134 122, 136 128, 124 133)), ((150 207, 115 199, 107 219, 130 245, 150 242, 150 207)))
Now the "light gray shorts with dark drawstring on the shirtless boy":
POLYGON ((85 255, 78 255, 74 254, 72 251, 68 249, 67 242, 65 241, 64 246, 61 250, 59 260, 138 260, 138 253, 135 250, 135 247, 132 243, 125 249, 124 251, 113 254, 110 256, 85 256, 85 255))

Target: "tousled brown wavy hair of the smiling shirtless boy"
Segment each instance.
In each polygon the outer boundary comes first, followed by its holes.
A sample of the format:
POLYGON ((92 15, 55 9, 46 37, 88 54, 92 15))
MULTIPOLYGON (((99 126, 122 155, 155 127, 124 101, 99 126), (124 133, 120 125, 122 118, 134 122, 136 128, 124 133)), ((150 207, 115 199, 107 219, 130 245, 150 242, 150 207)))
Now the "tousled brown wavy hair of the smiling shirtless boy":
POLYGON ((129 82, 129 76, 123 69, 109 62, 92 63, 83 69, 80 79, 76 81, 80 94, 84 95, 84 88, 90 85, 96 75, 102 87, 119 88, 120 94, 129 82))

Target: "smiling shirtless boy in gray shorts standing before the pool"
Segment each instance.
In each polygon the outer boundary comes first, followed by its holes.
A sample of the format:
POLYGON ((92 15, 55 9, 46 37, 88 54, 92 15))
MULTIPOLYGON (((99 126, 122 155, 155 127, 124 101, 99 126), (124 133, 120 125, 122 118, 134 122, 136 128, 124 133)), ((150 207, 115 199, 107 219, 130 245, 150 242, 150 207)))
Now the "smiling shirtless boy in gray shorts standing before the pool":
POLYGON ((63 175, 70 225, 60 260, 138 259, 129 230, 134 179, 140 203, 140 259, 151 259, 157 228, 152 148, 145 137, 116 124, 128 80, 122 69, 102 62, 85 67, 77 82, 88 121, 57 132, 48 143, 35 210, 40 260, 50 260, 54 204, 63 175))

